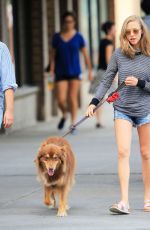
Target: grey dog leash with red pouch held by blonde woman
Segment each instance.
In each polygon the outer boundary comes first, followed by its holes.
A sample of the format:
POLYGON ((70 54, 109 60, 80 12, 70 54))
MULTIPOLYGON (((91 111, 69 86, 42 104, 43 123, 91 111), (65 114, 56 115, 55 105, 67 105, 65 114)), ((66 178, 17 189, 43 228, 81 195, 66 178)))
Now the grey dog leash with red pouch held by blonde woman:
MULTIPOLYGON (((124 88, 124 87, 125 87, 125 82, 123 81, 123 82, 118 86, 118 88, 117 88, 114 92, 110 93, 106 99, 102 99, 102 100, 98 103, 98 105, 97 105, 96 108, 93 110, 93 112, 95 113, 96 110, 98 110, 99 107, 101 107, 106 101, 107 101, 108 103, 112 103, 112 102, 116 101, 116 100, 119 98, 119 96, 120 96, 120 95, 119 95, 119 91, 120 91, 122 88, 124 88)), ((75 128, 76 128, 77 126, 79 126, 81 123, 83 123, 83 122, 84 122, 85 120, 87 120, 88 118, 89 118, 89 116, 84 116, 84 117, 83 117, 81 120, 79 120, 76 124, 72 125, 72 126, 70 127, 70 129, 69 129, 62 137, 66 137, 68 134, 72 133, 72 132, 75 130, 75 128)))

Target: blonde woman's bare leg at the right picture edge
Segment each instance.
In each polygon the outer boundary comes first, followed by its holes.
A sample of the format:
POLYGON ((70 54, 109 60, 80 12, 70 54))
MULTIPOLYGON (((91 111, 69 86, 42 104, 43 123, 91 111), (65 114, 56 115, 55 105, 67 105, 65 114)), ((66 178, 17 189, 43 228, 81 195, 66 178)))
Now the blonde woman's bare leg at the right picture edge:
POLYGON ((142 156, 144 200, 149 200, 150 202, 150 123, 139 126, 138 135, 142 156))

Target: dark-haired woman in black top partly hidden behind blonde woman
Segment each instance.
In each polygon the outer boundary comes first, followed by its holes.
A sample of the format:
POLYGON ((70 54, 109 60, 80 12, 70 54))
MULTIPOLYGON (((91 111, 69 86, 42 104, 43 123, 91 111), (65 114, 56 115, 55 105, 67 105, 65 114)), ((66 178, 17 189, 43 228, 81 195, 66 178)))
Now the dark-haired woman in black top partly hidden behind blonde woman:
MULTIPOLYGON (((98 51, 98 71, 95 79, 91 82, 90 93, 95 94, 99 82, 103 79, 104 73, 107 69, 107 65, 111 59, 114 51, 114 39, 115 39, 115 25, 111 21, 107 21, 102 24, 102 31, 105 33, 105 37, 100 40, 98 51)), ((101 124, 102 108, 96 112, 96 128, 102 128, 101 124)))

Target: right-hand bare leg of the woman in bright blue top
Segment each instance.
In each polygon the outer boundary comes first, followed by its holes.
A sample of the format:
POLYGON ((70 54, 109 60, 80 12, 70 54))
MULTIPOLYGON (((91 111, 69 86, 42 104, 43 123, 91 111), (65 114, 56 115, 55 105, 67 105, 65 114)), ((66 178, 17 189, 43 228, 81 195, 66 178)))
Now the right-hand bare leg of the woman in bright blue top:
POLYGON ((77 110, 78 110, 78 96, 80 89, 80 80, 70 80, 69 81, 69 102, 71 111, 71 124, 76 122, 77 110))

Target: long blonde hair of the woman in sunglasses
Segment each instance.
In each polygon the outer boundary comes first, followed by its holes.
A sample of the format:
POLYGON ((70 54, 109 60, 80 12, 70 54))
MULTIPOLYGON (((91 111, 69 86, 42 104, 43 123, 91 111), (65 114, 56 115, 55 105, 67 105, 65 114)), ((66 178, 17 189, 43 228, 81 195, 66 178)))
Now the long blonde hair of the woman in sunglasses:
POLYGON ((126 18, 123 23, 120 35, 120 48, 123 54, 127 55, 130 58, 134 58, 136 50, 132 47, 126 37, 126 28, 129 22, 137 21, 141 27, 142 35, 140 40, 140 50, 141 52, 146 55, 150 56, 150 32, 144 23, 144 21, 136 16, 132 15, 126 18))

